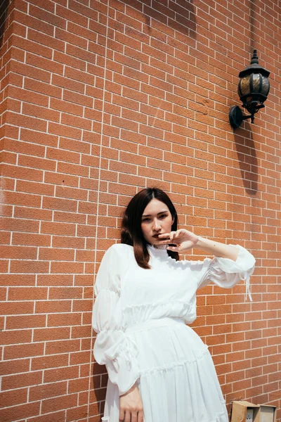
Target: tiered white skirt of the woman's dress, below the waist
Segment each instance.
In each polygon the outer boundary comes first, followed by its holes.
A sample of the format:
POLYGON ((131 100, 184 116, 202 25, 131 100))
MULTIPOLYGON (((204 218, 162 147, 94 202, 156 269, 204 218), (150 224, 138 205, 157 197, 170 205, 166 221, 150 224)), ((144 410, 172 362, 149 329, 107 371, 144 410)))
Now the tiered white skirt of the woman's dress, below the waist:
MULTIPOLYGON (((182 319, 134 324, 126 335, 138 350, 145 422, 228 422, 209 350, 182 319)), ((110 422, 119 422, 119 397, 109 382, 107 404, 113 396, 115 404, 105 413, 110 422)))

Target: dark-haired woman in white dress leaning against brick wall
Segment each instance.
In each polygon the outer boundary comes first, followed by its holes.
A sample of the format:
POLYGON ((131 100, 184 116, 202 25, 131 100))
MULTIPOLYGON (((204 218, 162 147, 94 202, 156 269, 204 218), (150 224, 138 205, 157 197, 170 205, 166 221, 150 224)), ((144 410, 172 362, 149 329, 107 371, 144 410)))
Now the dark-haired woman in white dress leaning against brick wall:
MULTIPOLYGON (((121 242, 103 257, 95 284, 94 356, 109 375, 110 422, 227 422, 211 355, 190 324, 195 294, 213 282, 232 288, 254 271, 254 257, 177 229, 169 197, 157 188, 134 196, 121 242), (179 261, 192 248, 214 255, 179 261)), ((250 293, 249 293, 250 295, 250 293)))

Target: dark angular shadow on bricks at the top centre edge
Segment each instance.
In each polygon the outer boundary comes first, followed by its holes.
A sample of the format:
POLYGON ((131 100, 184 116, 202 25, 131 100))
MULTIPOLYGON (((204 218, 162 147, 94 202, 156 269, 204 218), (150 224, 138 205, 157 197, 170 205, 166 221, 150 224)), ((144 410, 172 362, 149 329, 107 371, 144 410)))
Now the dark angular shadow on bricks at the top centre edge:
POLYGON ((170 1, 169 6, 152 1, 157 8, 147 6, 145 1, 141 3, 143 3, 143 14, 148 31, 151 30, 150 18, 152 18, 188 37, 196 38, 196 13, 193 0, 181 0, 181 5, 170 1))

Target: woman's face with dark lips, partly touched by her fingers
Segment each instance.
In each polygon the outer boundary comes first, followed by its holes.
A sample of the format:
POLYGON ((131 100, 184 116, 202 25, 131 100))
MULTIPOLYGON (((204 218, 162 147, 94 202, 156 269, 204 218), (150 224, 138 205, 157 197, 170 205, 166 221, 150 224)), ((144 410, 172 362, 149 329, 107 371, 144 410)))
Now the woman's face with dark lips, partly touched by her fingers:
POLYGON ((166 204, 153 198, 145 207, 141 217, 141 230, 145 241, 150 245, 159 245, 158 235, 170 233, 173 223, 174 219, 166 204))

